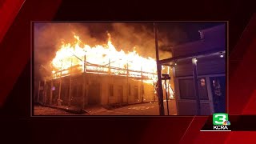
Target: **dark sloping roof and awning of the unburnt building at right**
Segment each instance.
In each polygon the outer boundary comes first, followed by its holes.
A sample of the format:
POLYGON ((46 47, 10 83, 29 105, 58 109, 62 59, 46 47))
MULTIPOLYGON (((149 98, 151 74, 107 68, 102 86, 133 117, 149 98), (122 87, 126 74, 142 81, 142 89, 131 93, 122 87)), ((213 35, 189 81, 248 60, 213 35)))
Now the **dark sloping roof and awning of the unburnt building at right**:
POLYGON ((162 65, 171 64, 171 62, 194 58, 208 57, 226 52, 226 26, 214 26, 206 30, 201 30, 203 39, 187 42, 173 47, 173 58, 162 59, 162 65))

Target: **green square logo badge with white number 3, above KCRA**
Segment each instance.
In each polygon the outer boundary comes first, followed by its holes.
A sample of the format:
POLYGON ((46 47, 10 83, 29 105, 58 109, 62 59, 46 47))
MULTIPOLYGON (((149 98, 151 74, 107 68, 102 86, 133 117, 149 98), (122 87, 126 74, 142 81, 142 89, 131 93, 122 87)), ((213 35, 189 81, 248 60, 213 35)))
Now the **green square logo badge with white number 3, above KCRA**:
POLYGON ((229 115, 225 113, 215 113, 213 115, 214 125, 230 125, 229 115))

